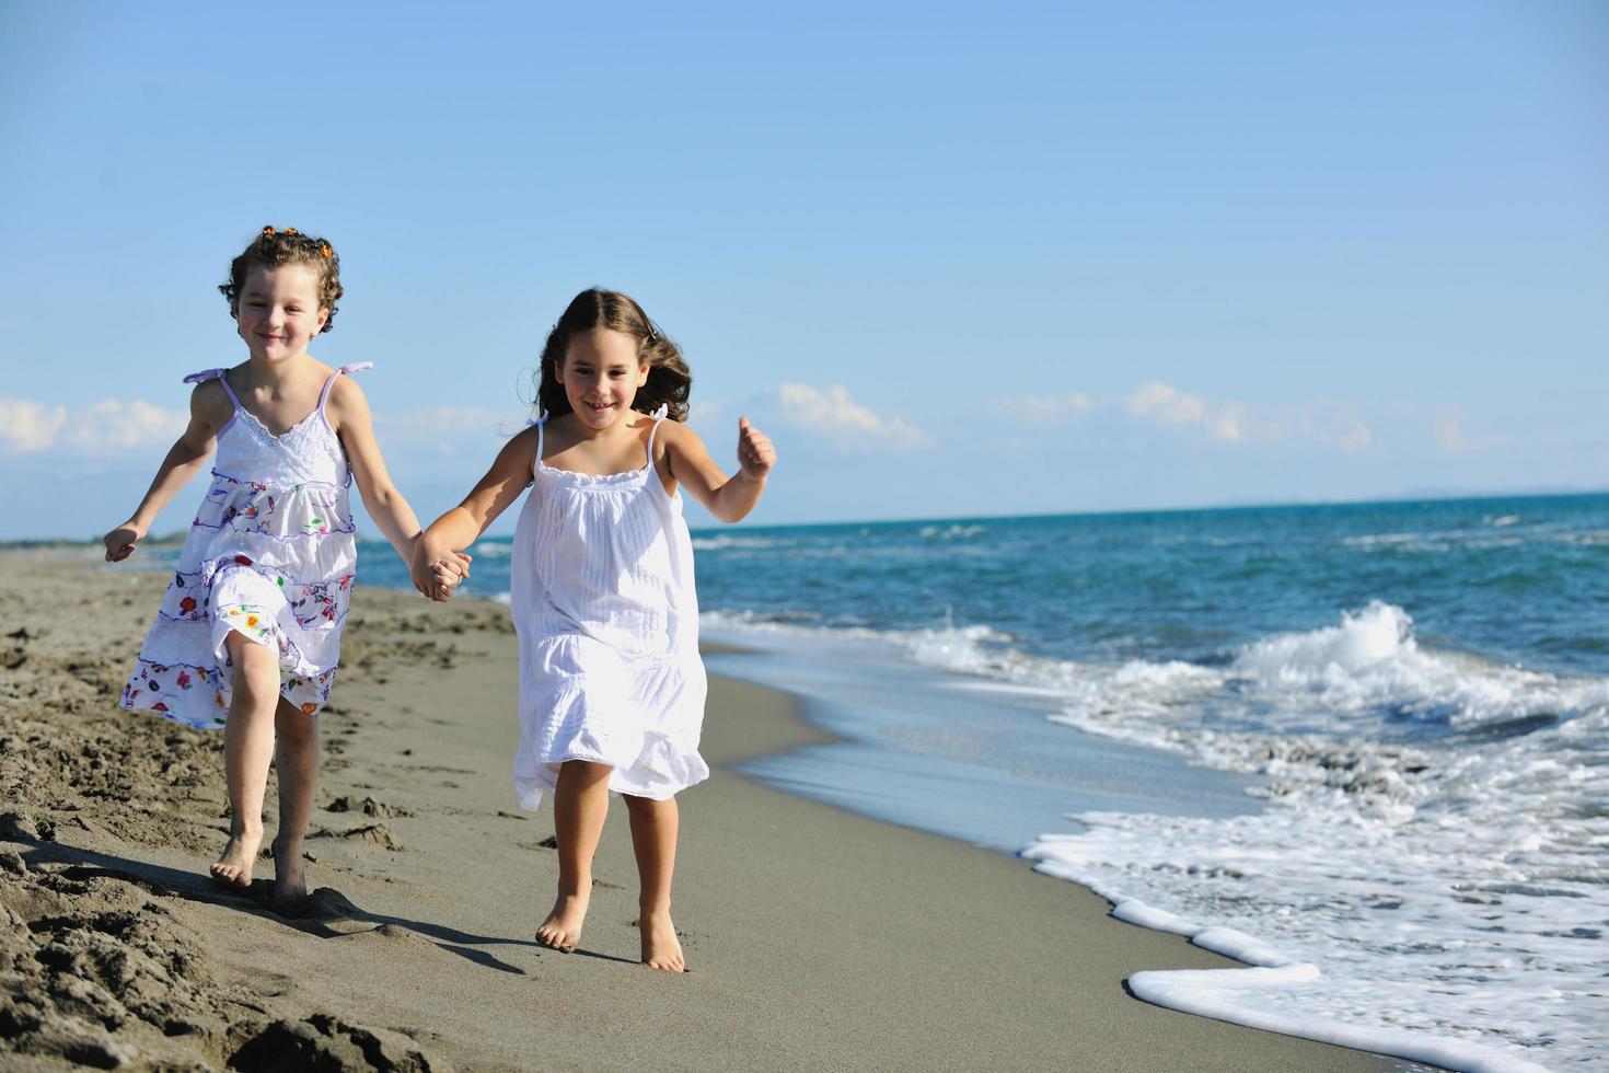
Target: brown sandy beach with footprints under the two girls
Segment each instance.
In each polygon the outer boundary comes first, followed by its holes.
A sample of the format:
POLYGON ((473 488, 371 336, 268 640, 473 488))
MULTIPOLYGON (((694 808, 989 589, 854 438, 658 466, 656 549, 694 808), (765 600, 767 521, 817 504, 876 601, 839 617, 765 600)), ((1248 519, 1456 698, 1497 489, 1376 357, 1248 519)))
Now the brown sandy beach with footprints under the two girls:
MULTIPOLYGON (((286 919, 272 861, 251 894, 204 878, 222 735, 116 706, 166 574, 56 550, 0 571, 10 1068, 1400 1068, 1147 1005, 1130 973, 1232 962, 1023 861, 734 774, 822 734, 727 680, 714 775, 681 798, 692 972, 637 964, 619 801, 581 948, 537 946, 552 817, 513 801, 513 634, 486 602, 356 595, 322 716, 317 893, 286 919)), ((275 808, 270 782, 270 832, 275 808)))

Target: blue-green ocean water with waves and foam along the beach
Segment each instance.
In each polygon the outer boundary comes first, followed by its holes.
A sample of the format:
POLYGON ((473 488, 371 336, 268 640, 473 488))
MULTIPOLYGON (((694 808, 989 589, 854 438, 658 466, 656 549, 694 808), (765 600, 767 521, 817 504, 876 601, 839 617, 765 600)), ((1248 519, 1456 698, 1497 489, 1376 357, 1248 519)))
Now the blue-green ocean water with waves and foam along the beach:
MULTIPOLYGON (((695 534, 755 767, 1249 968, 1147 1001, 1463 1070, 1609 1067, 1609 497, 695 534)), ((364 582, 404 587, 377 545, 364 582)), ((468 592, 507 592, 507 541, 468 592)), ((1070 972, 1073 968, 1070 967, 1070 972)))

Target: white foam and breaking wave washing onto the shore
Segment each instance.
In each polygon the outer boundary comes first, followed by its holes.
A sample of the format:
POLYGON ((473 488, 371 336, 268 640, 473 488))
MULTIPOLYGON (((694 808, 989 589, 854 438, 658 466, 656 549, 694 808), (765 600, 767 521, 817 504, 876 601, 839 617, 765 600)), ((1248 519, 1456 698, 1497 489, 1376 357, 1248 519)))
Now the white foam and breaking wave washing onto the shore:
POLYGON ((1281 970, 1139 975, 1142 997, 1451 1068, 1609 1055, 1603 679, 1426 650, 1389 603, 1265 637, 1221 666, 1036 658, 986 626, 714 618, 1056 693, 1057 722, 1263 775, 1257 816, 1080 812, 1083 833, 1030 848, 1039 870, 1125 920, 1281 970))

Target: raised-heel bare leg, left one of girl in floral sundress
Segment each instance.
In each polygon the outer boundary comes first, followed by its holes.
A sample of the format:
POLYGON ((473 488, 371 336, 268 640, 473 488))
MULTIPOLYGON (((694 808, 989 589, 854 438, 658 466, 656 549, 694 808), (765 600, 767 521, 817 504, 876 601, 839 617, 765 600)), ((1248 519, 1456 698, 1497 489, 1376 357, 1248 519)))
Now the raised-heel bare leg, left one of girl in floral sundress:
POLYGON ((232 812, 228 841, 212 862, 212 878, 246 890, 262 846, 262 795, 274 754, 274 709, 280 701, 278 655, 230 632, 224 642, 233 664, 233 695, 224 724, 224 782, 232 812))

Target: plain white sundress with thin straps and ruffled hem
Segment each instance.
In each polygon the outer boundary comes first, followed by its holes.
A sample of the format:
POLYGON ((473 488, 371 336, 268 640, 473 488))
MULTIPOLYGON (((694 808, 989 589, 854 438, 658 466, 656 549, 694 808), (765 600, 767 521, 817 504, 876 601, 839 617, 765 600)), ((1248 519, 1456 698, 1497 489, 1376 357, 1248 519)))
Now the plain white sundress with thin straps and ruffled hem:
POLYGON ((536 809, 568 759, 610 764, 608 788, 663 801, 710 775, 698 756, 693 545, 681 495, 653 465, 587 476, 542 463, 513 536, 510 611, 520 637, 521 808, 536 809))

